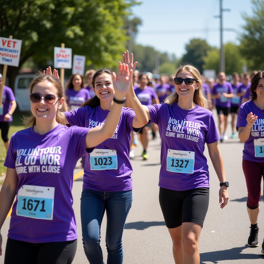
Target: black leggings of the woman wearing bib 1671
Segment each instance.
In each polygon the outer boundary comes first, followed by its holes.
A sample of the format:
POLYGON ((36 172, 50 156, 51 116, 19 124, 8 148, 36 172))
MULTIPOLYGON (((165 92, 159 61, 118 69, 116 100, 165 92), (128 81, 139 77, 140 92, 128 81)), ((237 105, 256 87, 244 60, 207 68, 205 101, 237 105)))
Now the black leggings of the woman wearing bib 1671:
POLYGON ((29 243, 7 239, 4 264, 70 264, 77 239, 63 242, 29 243))

